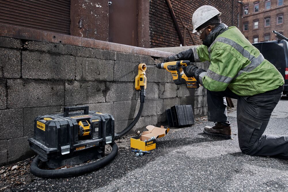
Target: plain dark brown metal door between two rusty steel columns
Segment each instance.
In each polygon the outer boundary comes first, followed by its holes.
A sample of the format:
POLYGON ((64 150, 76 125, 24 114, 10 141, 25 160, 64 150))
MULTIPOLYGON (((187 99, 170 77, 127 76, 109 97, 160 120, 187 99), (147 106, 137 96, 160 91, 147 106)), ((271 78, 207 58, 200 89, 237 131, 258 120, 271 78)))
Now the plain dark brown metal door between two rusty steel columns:
POLYGON ((111 0, 109 5, 109 41, 138 46, 138 1, 111 0))

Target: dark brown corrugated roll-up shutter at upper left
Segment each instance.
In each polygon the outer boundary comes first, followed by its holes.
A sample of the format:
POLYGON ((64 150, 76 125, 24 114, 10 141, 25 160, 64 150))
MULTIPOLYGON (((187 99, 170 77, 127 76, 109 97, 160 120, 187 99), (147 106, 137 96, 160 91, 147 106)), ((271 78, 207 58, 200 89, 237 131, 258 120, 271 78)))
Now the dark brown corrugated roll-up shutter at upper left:
POLYGON ((70 0, 0 0, 0 24, 70 35, 70 0))

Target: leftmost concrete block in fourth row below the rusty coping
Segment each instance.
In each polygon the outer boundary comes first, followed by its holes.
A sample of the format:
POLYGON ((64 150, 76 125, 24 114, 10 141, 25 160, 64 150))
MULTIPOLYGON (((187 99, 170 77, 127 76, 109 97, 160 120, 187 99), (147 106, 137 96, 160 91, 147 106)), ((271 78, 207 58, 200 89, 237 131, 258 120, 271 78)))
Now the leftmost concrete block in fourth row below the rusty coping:
POLYGON ((23 109, 0 110, 0 140, 23 136, 23 109))

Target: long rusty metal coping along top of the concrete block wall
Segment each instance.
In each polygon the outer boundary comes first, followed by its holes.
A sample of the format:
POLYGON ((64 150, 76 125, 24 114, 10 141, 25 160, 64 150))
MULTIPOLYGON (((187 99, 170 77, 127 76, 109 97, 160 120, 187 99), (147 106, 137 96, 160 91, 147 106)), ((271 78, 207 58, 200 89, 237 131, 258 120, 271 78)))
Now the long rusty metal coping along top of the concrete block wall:
POLYGON ((172 53, 0 24, 0 36, 166 58, 172 53))

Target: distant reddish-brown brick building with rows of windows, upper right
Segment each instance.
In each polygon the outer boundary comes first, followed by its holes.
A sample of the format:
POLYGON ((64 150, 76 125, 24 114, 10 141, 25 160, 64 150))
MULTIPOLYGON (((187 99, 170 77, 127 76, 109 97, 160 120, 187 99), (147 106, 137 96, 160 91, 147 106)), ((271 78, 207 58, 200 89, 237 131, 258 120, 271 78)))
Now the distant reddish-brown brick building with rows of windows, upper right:
POLYGON ((287 0, 243 0, 239 8, 241 32, 251 43, 276 40, 273 30, 287 36, 287 0))

